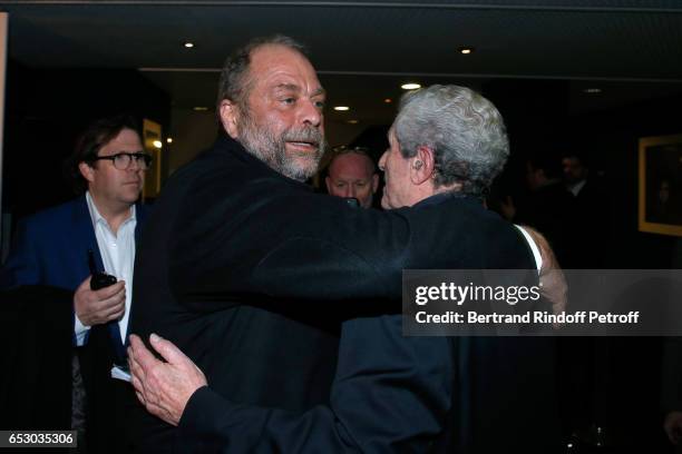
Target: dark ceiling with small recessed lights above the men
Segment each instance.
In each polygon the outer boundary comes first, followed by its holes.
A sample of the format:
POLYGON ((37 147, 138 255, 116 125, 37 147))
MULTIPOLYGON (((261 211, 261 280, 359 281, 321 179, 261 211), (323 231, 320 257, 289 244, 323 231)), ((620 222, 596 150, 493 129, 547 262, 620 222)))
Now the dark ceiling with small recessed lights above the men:
POLYGON ((0 1, 10 57, 138 68, 176 108, 212 107, 225 56, 275 32, 305 43, 328 121, 390 122, 399 85, 571 81, 575 111, 682 93, 682 1, 0 1), (195 47, 186 49, 183 43, 195 47), (464 56, 460 47, 474 47, 464 56), (586 93, 586 88, 600 93, 586 93))

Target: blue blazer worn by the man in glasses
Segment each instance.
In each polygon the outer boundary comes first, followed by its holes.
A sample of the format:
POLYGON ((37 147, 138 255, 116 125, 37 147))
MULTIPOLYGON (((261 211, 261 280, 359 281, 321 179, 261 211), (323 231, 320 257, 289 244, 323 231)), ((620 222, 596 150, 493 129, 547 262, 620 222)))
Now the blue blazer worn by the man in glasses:
MULTIPOLYGON (((147 216, 136 207, 136 237, 147 216)), ((104 269, 85 195, 18 223, 14 243, 0 272, 0 288, 49 285, 76 290, 90 275, 88 250, 104 269)), ((130 289, 131 290, 131 289, 130 289)))

